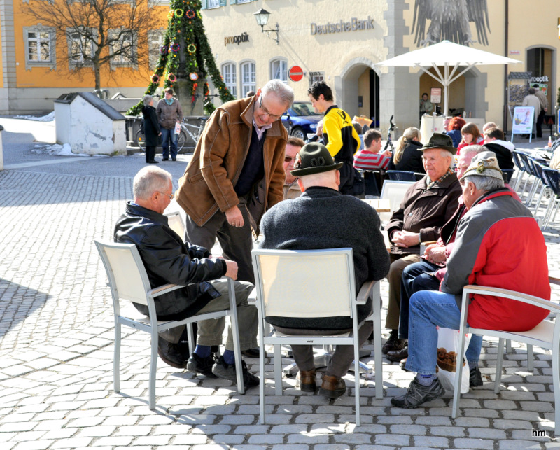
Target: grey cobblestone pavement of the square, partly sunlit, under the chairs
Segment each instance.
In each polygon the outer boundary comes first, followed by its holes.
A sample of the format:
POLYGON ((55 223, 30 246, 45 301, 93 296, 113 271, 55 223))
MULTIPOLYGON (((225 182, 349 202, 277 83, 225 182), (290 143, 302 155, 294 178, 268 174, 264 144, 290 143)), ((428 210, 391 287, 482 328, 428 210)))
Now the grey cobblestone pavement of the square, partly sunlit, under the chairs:
MULTIPOLYGON (((353 425, 352 376, 346 377, 349 394, 334 402, 300 392, 290 378, 283 382, 284 395, 275 396, 271 358, 266 425, 258 421, 258 389, 238 395, 229 381, 193 377, 161 361, 152 412, 149 339, 127 328, 121 393, 114 393, 111 294, 92 239, 111 239, 144 155, 30 161, 23 157, 33 143, 18 136, 7 140, 18 145, 6 148, 4 138, 9 164, 0 172, 0 449, 560 447, 550 353, 535 349, 531 373, 525 347, 514 345, 504 361, 504 387, 495 394, 490 381, 497 342, 490 339, 481 358, 484 386, 463 395, 457 419, 451 419, 449 396, 419 409, 391 407, 389 400, 404 391, 412 374, 386 360, 383 400, 374 398, 375 380, 362 377, 359 428, 353 425), (14 148, 22 153, 19 159, 14 148), (23 162, 30 164, 18 165, 23 162)), ((188 157, 179 159, 160 164, 172 168, 175 180, 188 157)), ((550 270, 560 274, 557 224, 545 237, 550 270)), ((385 298, 386 291, 384 281, 385 298)), ((553 298, 560 300, 558 290, 553 298)), ((372 357, 363 361, 373 365, 372 357)), ((258 372, 258 360, 247 363, 258 372)))

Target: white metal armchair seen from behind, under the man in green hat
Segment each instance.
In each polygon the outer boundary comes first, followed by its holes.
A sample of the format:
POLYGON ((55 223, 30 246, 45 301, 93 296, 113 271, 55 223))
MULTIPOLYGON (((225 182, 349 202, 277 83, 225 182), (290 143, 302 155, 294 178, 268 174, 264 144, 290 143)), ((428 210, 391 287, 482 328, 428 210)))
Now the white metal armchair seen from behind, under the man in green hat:
MULTIPOLYGON (((354 361, 359 360, 358 315, 356 306, 373 300, 375 343, 376 397, 383 397, 383 370, 381 361, 381 301, 379 282, 364 283, 356 297, 351 248, 325 250, 253 250, 256 304, 259 312, 260 335, 260 423, 265 423, 265 345, 274 346, 274 380, 276 395, 282 395, 281 346, 292 344, 353 345, 354 361), (268 336, 267 316, 279 317, 340 317, 353 319, 353 332, 345 335, 283 335, 275 332, 268 336)), ((370 320, 370 318, 366 319, 370 320)), ((360 425, 360 375, 356 379, 356 426, 360 425)))

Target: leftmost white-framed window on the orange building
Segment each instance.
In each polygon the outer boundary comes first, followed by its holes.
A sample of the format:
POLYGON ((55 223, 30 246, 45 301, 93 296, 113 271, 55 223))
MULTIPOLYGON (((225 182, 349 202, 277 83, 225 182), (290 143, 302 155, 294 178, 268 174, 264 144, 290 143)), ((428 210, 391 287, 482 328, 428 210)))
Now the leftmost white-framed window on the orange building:
POLYGON ((25 69, 50 67, 56 70, 56 34, 52 27, 23 27, 25 69))

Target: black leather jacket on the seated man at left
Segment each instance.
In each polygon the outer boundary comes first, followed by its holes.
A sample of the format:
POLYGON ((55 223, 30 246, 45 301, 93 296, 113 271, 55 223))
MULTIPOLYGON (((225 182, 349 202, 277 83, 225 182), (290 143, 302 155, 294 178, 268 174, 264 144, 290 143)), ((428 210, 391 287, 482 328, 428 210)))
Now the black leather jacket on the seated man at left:
MULTIPOLYGON (((221 278, 225 261, 207 259, 207 248, 184 243, 169 225, 167 217, 151 209, 127 202, 126 211, 117 220, 113 238, 116 242, 135 244, 148 272, 152 288, 173 283, 185 285, 155 298, 160 320, 181 320, 193 316, 220 294, 209 280, 221 278), (187 286, 188 285, 188 286, 187 286)), ((148 308, 134 304, 143 314, 148 308)))

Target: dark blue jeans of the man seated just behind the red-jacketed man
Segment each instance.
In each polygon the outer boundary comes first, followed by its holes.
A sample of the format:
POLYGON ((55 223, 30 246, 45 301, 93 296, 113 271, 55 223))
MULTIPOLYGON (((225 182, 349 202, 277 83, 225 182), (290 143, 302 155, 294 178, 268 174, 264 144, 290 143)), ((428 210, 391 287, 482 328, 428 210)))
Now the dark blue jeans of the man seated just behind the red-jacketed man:
POLYGON ((414 262, 402 271, 400 285, 399 339, 408 339, 408 306, 410 297, 419 290, 439 290, 440 281, 432 275, 440 266, 426 260, 414 262))

